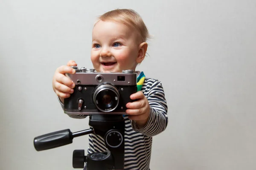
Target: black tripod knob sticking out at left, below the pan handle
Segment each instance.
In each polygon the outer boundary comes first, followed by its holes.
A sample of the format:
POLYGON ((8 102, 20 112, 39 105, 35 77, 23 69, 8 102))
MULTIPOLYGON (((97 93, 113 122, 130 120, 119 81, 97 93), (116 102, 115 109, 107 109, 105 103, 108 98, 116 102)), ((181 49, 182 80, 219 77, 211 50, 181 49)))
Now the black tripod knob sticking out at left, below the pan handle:
POLYGON ((84 156, 84 150, 73 151, 73 168, 84 168, 84 162, 86 162, 86 156, 84 156))

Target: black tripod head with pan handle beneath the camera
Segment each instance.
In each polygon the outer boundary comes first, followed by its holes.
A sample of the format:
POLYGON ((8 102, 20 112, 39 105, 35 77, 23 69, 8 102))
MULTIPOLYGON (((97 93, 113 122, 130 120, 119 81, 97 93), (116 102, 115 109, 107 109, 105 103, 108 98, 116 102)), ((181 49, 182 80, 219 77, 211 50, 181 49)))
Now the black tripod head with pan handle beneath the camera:
POLYGON ((104 139, 107 150, 84 156, 84 150, 74 150, 73 168, 84 170, 123 170, 125 122, 122 115, 90 115, 90 129, 72 133, 69 129, 47 133, 34 139, 37 151, 64 146, 73 138, 94 133, 104 139), (84 167, 84 162, 87 166, 84 167))

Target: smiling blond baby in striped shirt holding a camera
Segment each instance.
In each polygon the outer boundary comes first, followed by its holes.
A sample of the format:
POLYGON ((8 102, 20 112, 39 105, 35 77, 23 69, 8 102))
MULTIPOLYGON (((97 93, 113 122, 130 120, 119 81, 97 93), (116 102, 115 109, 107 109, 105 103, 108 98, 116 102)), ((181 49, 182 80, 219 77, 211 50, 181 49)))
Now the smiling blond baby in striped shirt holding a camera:
MULTIPOLYGON (((136 70, 145 58, 148 48, 148 29, 137 12, 131 9, 116 9, 101 15, 92 32, 91 61, 98 72, 122 72, 136 70)), ((66 73, 74 74, 70 60, 55 71, 52 87, 62 108, 64 99, 73 93, 75 87, 66 73)), ((145 77, 137 72, 137 93, 130 96, 137 99, 127 103, 125 119, 125 170, 149 170, 152 136, 166 129, 168 124, 167 103, 160 81, 145 77)), ((86 115, 69 115, 85 118, 86 115)), ((89 135, 88 154, 107 150, 104 139, 89 135)))

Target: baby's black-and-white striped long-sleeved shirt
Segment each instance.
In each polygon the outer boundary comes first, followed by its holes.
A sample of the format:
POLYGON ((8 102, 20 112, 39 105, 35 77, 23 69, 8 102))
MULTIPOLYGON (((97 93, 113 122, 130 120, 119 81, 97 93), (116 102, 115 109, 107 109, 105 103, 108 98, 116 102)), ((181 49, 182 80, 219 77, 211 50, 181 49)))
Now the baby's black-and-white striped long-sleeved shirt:
MULTIPOLYGON (((125 170, 149 170, 152 148, 152 136, 163 132, 168 124, 167 102, 163 86, 157 79, 145 78, 141 91, 148 99, 150 114, 147 124, 139 129, 136 122, 125 119, 125 170)), ((61 103, 62 108, 64 105, 61 103)), ((69 115, 72 118, 83 119, 87 115, 69 115)), ((104 152, 104 139, 89 134, 89 153, 104 152)))

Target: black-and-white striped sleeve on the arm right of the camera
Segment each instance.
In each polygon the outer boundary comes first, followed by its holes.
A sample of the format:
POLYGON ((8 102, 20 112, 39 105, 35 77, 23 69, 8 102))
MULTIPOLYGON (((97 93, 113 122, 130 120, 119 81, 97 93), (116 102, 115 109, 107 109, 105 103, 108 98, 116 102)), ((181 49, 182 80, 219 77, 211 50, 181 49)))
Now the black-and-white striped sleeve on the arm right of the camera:
POLYGON ((168 124, 167 102, 162 83, 156 79, 147 79, 144 95, 150 105, 150 114, 146 125, 139 129, 135 121, 131 121, 134 131, 146 136, 155 136, 163 132, 168 124))

